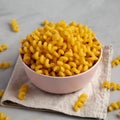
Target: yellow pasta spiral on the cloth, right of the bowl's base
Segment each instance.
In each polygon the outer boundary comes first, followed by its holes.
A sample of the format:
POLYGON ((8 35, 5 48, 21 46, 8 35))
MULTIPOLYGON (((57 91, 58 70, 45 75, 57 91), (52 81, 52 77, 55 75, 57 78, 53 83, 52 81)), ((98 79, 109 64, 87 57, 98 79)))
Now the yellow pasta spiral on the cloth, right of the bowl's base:
POLYGON ((81 107, 83 107, 87 98, 88 98, 87 94, 84 93, 81 94, 78 100, 74 103, 73 110, 77 112, 81 107))

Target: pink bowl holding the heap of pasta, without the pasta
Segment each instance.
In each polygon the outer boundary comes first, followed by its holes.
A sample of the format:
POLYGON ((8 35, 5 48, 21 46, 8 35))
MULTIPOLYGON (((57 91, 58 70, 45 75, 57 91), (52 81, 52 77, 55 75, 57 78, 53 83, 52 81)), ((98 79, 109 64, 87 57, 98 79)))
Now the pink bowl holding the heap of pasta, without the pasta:
POLYGON ((20 59, 24 66, 28 78, 35 86, 49 93, 66 94, 84 88, 91 81, 100 63, 101 57, 102 57, 102 51, 96 64, 93 67, 91 67, 89 70, 80 73, 78 75, 66 76, 66 77, 53 77, 43 74, 37 74, 22 61, 21 57, 20 59))

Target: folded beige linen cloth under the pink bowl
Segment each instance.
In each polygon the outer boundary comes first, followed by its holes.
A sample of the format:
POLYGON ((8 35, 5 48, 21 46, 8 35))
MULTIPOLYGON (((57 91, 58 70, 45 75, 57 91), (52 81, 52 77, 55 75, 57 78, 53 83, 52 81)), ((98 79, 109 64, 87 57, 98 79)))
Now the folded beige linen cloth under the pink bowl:
POLYGON ((104 80, 111 76, 112 47, 104 46, 102 60, 97 68, 92 81, 83 89, 64 95, 50 94, 35 87, 26 76, 23 66, 18 58, 13 74, 1 99, 1 105, 22 106, 41 110, 61 112, 71 116, 105 119, 110 91, 101 88, 104 80), (18 89, 23 83, 29 84, 28 93, 24 100, 17 98, 18 89), (78 112, 73 110, 73 105, 80 94, 86 93, 89 98, 84 107, 78 112))

